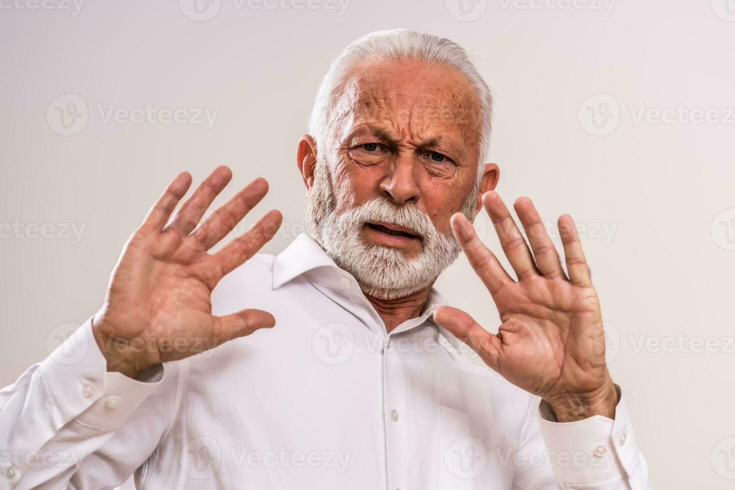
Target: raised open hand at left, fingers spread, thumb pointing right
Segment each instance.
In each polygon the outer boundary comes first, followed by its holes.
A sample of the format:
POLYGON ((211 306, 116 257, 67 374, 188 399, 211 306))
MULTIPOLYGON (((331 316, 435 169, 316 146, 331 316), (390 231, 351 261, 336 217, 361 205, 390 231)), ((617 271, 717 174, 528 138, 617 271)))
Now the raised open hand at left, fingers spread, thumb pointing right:
POLYGON ((273 238, 282 220, 271 210, 221 251, 207 253, 268 192, 268 182, 255 179, 200 223, 230 179, 229 168, 218 167, 172 217, 192 181, 179 174, 129 238, 93 317, 108 371, 136 378, 148 367, 275 325, 273 315, 257 309, 212 315, 212 289, 273 238))

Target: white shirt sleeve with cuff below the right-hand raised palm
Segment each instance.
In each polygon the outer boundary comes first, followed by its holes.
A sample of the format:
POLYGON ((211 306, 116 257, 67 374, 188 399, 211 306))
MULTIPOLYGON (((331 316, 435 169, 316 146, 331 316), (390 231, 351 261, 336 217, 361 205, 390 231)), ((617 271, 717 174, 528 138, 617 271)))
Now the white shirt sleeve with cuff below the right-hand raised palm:
POLYGON ((523 430, 513 488, 649 490, 648 465, 619 393, 614 420, 595 416, 559 423, 541 403, 523 430))

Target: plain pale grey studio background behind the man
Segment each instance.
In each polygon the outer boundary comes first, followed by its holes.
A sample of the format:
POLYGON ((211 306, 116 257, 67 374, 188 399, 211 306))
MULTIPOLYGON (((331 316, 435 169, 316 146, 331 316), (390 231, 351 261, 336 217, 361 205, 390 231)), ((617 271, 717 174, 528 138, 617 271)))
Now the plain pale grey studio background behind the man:
MULTIPOLYGON (((227 196, 265 176, 271 191, 253 216, 283 212, 264 250, 281 251, 301 231, 296 142, 330 60, 359 35, 405 26, 476 57, 495 96, 490 154, 503 198, 528 195, 551 223, 570 212, 586 227, 612 375, 653 487, 735 484, 725 466, 735 447, 735 15, 725 0, 621 0, 612 11, 598 0, 567 10, 554 8, 564 0, 467 1, 475 20, 457 13, 457 0, 351 0, 345 12, 331 0, 301 10, 215 0, 209 21, 188 18, 186 0, 88 1, 76 15, 71 3, 47 1, 50 10, 0 2, 0 226, 15 223, 0 228, 0 386, 96 311, 123 242, 179 170, 200 181, 229 165, 227 196), (69 93, 86 102, 88 123, 61 136, 60 119, 46 113, 69 93), (598 94, 609 95, 588 101, 598 94), (619 106, 607 106, 600 131, 609 134, 592 135, 587 107, 600 116, 609 96, 619 106), (148 104, 218 115, 205 130, 105 123, 99 113, 148 104), (641 108, 680 105, 713 109, 713 120, 637 120, 641 108), (35 237, 46 223, 46 237, 35 237), (85 226, 78 242, 65 232, 71 224, 85 226), (641 339, 674 343, 664 351, 641 339), (708 341, 711 352, 692 351, 708 341)), ((477 228, 497 250, 487 222, 477 228)), ((463 256, 438 287, 497 328, 463 256)))

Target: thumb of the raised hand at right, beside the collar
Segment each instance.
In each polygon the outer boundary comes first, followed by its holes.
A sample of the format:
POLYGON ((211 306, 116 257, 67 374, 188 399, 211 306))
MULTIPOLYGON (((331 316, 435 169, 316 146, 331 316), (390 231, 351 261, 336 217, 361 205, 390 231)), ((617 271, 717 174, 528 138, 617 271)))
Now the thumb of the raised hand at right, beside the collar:
POLYGON ((503 345, 497 335, 490 334, 465 311, 451 306, 437 308, 434 321, 469 345, 485 364, 498 370, 498 356, 503 345))

